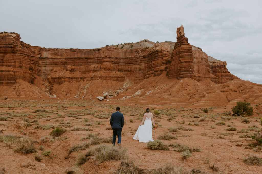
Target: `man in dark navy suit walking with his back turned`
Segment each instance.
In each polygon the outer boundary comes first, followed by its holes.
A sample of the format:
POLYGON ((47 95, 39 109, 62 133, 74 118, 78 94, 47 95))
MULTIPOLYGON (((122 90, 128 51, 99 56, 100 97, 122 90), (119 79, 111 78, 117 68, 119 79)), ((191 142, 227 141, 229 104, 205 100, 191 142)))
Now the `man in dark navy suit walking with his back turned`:
POLYGON ((110 118, 110 125, 113 130, 113 141, 112 144, 116 144, 116 135, 118 137, 117 144, 119 147, 121 147, 121 132, 122 128, 124 127, 124 116, 122 113, 119 112, 120 107, 116 108, 116 112, 112 113, 110 118))

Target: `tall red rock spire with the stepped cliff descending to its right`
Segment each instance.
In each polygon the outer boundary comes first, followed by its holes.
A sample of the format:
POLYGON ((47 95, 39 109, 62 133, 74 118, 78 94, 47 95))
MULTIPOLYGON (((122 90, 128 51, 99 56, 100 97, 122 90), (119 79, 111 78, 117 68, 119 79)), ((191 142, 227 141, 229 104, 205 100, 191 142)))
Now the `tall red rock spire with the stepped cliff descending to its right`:
POLYGON ((167 76, 177 79, 190 77, 197 81, 210 79, 218 84, 239 79, 227 70, 226 62, 222 63, 218 60, 214 61, 214 59, 210 59, 210 61, 208 55, 201 48, 188 43, 184 27, 178 27, 177 42, 172 52, 171 65, 167 71, 167 76))

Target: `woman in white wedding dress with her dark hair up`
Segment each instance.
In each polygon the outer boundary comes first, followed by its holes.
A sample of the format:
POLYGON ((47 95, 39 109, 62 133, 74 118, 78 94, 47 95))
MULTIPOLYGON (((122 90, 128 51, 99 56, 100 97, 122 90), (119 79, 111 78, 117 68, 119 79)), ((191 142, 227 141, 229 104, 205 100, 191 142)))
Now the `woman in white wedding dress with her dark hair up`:
POLYGON ((143 143, 147 143, 148 141, 154 141, 152 138, 152 122, 154 124, 154 119, 153 114, 149 111, 149 108, 146 108, 146 113, 144 114, 143 120, 133 137, 134 140, 139 140, 139 142, 143 143), (144 125, 142 125, 143 122, 144 125))

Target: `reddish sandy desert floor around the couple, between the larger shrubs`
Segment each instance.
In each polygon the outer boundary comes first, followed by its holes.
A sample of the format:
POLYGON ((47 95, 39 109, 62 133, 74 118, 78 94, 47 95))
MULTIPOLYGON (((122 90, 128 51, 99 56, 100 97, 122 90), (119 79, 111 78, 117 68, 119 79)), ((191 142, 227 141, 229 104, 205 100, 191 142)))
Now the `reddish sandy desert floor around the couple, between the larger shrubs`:
MULTIPOLYGON (((86 150, 71 153, 68 157, 68 150, 78 144, 86 141, 80 139, 87 134, 96 134, 101 138, 112 136, 110 130, 110 115, 115 111, 116 106, 121 107, 124 114, 125 125, 122 131, 122 148, 127 148, 129 158, 135 160, 140 169, 147 173, 150 170, 165 166, 167 163, 183 167, 184 171, 189 171, 195 167, 201 167, 202 170, 212 173, 211 165, 215 165, 223 173, 261 173, 261 166, 247 165, 243 159, 248 155, 262 157, 262 150, 252 147, 249 144, 255 143, 251 138, 241 138, 245 134, 254 134, 255 130, 262 128, 260 118, 254 116, 248 118, 249 123, 243 123, 244 117, 233 117, 222 115, 230 108, 210 107, 208 113, 201 110, 200 107, 172 106, 172 105, 151 105, 146 106, 146 101, 137 105, 129 101, 112 101, 111 103, 90 102, 90 101, 67 101, 58 100, 1 100, 0 117, 7 117, 7 121, 0 121, 0 130, 5 134, 16 136, 26 135, 36 140, 35 146, 44 147, 44 151, 51 150, 49 156, 44 156, 40 162, 34 159, 34 153, 21 154, 12 149, 16 144, 9 148, 5 143, 0 142, 0 167, 5 167, 6 173, 64 173, 67 167, 72 167, 80 153, 84 154, 86 150), (182 160, 181 152, 150 150, 146 143, 140 143, 133 140, 136 129, 140 124, 141 114, 146 107, 152 110, 159 110, 159 118, 155 116, 155 122, 159 128, 153 130, 153 139, 157 140, 159 135, 173 134, 177 136, 176 140, 161 140, 166 145, 178 143, 190 147, 198 147, 200 152, 193 152, 192 157, 182 160), (46 112, 38 112, 37 109, 45 109, 46 112), (62 115, 62 118, 61 118, 62 115), (59 118, 60 116, 60 118, 59 118), (70 116, 70 117, 68 117, 70 116), (98 118, 98 117, 105 118, 98 118), (193 118, 199 116, 200 118, 193 118), (64 118, 63 118, 64 117, 64 118), (204 118, 204 121, 200 121, 204 118), (226 118, 226 119, 225 119, 226 118), (32 122, 37 119, 37 122, 32 122), (130 122, 132 119, 134 122, 130 122), (30 123, 31 126, 23 126, 21 121, 30 123), (98 122, 99 123, 98 123, 98 122), (225 125, 216 125, 223 121, 225 125), (32 122, 32 123, 31 123, 32 122), (70 122, 67 124, 66 122, 70 122), (91 126, 84 125, 91 123, 91 126), (191 123, 191 125, 188 125, 191 123), (199 125, 195 125, 198 123, 199 125), (41 125, 51 125, 51 129, 43 130, 36 128, 41 125), (212 127, 211 127, 212 126, 212 127), (241 129, 254 129, 248 133, 239 133, 241 129), (49 136, 50 132, 56 127, 63 127, 67 132, 53 142, 43 142, 41 137, 49 136), (92 131, 71 131, 73 128, 90 128, 92 131), (168 128, 191 128, 192 131, 179 130, 170 132, 168 128), (226 130, 234 127, 237 131, 226 130), (236 146, 236 145, 240 146, 236 146), (254 150, 255 149, 255 150, 254 150), (256 151, 256 152, 255 152, 256 151), (66 157, 66 158, 65 158, 66 157), (207 164, 209 159, 210 164, 207 164), (27 163, 33 166, 21 167, 27 163)), ((110 143, 107 143, 110 145, 110 143)), ((90 146, 90 148, 95 145, 90 146)), ((43 151, 38 150, 38 154, 43 151)), ((90 159, 83 165, 80 165, 81 173, 112 173, 119 168, 120 161, 105 161, 98 164, 94 159, 90 159)))

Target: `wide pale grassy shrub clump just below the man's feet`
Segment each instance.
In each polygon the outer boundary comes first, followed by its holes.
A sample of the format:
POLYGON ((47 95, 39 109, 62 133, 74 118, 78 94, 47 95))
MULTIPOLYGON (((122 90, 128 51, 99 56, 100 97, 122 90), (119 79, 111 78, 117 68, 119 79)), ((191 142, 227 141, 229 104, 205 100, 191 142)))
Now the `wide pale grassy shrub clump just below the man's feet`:
POLYGON ((118 148, 112 145, 97 145, 94 149, 90 149, 86 152, 86 157, 94 156, 94 159, 99 163, 110 160, 123 160, 127 159, 126 148, 118 148))

